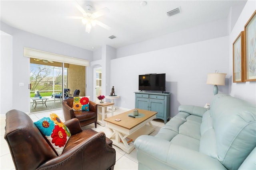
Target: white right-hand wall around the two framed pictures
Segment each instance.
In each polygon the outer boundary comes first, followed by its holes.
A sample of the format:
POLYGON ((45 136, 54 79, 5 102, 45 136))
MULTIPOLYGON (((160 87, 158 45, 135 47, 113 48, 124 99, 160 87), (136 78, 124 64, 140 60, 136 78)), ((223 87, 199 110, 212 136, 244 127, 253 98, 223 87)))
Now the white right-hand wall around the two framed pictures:
POLYGON ((252 16, 253 12, 256 10, 256 1, 248 0, 242 13, 240 14, 233 30, 230 33, 229 38, 229 84, 230 84, 230 95, 236 98, 241 98, 242 100, 247 100, 253 104, 256 104, 256 82, 242 82, 233 83, 232 72, 233 72, 233 52, 232 44, 236 37, 241 31, 244 31, 244 25, 252 16))

